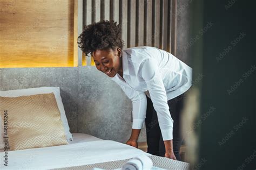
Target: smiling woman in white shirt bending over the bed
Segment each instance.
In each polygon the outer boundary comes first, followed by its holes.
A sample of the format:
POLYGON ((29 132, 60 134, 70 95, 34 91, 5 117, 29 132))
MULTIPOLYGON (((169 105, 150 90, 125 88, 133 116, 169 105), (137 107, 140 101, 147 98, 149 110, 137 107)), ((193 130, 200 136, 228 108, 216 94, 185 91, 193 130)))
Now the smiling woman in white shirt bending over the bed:
POLYGON ((156 47, 123 49, 121 27, 113 21, 85 26, 78 46, 86 55, 91 53, 96 68, 132 100, 132 133, 126 144, 137 147, 145 121, 147 152, 180 160, 180 111, 172 109, 171 103, 181 101, 175 97, 191 87, 192 69, 156 47))

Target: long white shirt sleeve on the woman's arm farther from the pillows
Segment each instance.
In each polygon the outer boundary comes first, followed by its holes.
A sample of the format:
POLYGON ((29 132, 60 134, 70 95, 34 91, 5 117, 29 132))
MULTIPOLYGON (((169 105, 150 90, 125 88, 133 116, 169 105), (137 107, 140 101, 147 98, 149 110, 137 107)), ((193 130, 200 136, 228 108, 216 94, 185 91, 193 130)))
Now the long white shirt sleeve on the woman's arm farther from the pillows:
POLYGON ((146 82, 153 107, 157 111, 163 140, 171 140, 173 139, 173 119, 169 111, 166 90, 156 61, 153 58, 145 59, 142 63, 140 74, 146 82))

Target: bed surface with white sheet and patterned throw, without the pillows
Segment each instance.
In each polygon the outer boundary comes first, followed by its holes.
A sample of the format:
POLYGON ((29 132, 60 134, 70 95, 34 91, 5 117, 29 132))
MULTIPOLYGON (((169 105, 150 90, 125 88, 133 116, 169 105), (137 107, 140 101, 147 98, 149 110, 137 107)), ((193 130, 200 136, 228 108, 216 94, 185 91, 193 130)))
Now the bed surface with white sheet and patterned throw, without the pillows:
MULTIPOLYGON (((8 169, 93 169, 120 168, 139 155, 146 155, 154 167, 188 169, 189 164, 151 155, 113 140, 103 140, 85 133, 72 133, 69 145, 30 148, 8 152, 8 169)), ((4 151, 0 152, 1 158, 4 151)), ((1 169, 3 168, 1 164, 1 169)))

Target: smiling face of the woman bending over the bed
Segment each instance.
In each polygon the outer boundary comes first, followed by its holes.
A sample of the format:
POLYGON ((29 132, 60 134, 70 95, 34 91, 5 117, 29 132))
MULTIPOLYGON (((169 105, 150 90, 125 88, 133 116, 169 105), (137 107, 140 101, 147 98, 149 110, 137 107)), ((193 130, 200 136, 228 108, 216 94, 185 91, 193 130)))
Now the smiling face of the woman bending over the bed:
POLYGON ((109 77, 114 77, 118 72, 123 72, 122 49, 97 49, 92 53, 96 68, 109 77))

